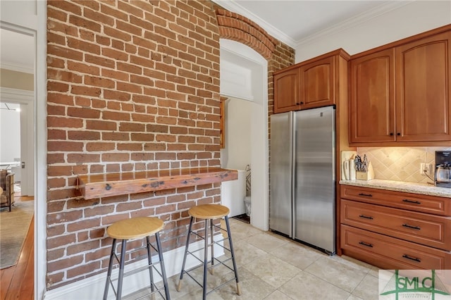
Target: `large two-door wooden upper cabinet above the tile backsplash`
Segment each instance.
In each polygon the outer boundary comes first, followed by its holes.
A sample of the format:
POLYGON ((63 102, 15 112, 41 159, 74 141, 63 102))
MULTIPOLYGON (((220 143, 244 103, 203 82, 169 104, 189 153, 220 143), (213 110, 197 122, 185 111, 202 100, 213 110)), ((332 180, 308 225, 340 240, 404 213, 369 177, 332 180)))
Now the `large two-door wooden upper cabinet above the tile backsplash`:
POLYGON ((451 141, 450 43, 446 26, 352 56, 351 146, 451 141))

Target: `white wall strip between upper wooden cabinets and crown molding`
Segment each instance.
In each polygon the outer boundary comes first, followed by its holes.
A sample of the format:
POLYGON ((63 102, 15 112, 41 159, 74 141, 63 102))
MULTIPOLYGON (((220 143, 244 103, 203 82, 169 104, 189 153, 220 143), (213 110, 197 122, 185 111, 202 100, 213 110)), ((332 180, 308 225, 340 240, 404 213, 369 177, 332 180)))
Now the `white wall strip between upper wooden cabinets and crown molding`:
POLYGON ((296 63, 345 49, 353 55, 451 23, 451 1, 392 1, 393 10, 359 16, 297 44, 296 63))

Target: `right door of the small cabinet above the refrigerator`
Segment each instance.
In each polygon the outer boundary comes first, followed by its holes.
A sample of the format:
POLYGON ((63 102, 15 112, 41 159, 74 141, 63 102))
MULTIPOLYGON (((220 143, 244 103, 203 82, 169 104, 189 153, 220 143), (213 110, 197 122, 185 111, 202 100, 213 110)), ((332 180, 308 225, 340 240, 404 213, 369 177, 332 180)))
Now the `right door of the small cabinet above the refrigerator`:
POLYGON ((301 108, 335 104, 335 56, 301 66, 301 108))

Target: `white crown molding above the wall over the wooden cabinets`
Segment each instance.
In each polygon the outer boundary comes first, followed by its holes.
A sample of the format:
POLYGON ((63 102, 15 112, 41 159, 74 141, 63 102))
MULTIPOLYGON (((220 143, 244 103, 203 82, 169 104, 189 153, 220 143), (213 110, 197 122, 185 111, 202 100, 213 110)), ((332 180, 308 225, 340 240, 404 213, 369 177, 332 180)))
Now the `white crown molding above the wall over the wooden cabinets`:
POLYGON ((388 3, 381 4, 380 6, 376 6, 375 8, 372 8, 369 11, 365 11, 364 13, 360 13, 359 15, 355 15, 352 18, 344 20, 326 29, 319 30, 318 32, 315 32, 314 34, 309 35, 304 39, 300 39, 299 41, 297 41, 295 49, 297 49, 299 46, 302 46, 303 44, 310 44, 314 40, 323 39, 324 37, 327 37, 329 35, 334 35, 343 30, 347 30, 348 28, 355 27, 361 23, 371 20, 372 18, 376 18, 390 11, 394 11, 395 9, 400 8, 402 6, 406 6, 407 4, 410 4, 414 1, 415 0, 390 1, 388 3))

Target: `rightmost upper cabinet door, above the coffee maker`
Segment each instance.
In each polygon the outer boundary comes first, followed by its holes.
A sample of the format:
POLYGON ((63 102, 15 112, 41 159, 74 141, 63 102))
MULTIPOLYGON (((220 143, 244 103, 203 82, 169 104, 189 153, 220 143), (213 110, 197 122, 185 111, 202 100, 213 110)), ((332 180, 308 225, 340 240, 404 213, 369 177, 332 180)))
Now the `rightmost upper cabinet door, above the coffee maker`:
POLYGON ((397 141, 451 140, 451 32, 395 48, 397 141))

